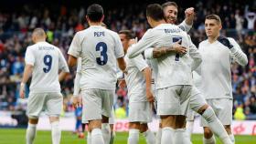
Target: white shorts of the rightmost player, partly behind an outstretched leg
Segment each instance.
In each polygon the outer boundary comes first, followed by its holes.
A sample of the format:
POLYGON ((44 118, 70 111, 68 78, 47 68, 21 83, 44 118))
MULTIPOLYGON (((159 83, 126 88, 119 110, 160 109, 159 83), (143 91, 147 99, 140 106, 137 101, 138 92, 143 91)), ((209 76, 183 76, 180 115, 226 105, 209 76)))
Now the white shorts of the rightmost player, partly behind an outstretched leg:
MULTIPOLYGON (((222 125, 231 125, 233 100, 229 98, 207 99, 208 105, 213 108, 222 125)), ((201 126, 208 127, 208 123, 201 118, 201 126)))

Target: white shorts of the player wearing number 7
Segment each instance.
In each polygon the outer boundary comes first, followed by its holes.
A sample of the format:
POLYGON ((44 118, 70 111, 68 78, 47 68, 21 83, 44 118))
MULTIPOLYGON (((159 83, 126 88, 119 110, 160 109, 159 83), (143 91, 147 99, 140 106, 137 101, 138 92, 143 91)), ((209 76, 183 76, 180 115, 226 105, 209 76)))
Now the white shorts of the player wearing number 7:
POLYGON ((192 86, 173 86, 157 89, 157 115, 187 116, 192 86))

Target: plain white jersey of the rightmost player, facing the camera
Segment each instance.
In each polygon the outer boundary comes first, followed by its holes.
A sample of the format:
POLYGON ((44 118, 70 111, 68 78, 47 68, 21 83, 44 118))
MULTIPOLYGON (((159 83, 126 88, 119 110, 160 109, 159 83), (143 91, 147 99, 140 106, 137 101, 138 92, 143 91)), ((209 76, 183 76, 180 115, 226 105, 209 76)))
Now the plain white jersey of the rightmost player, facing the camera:
POLYGON ((233 60, 242 66, 248 63, 237 42, 233 38, 229 38, 229 42, 233 45, 230 50, 219 41, 210 44, 205 40, 199 44, 202 64, 198 74, 202 77, 201 90, 206 99, 232 98, 230 64, 233 60))

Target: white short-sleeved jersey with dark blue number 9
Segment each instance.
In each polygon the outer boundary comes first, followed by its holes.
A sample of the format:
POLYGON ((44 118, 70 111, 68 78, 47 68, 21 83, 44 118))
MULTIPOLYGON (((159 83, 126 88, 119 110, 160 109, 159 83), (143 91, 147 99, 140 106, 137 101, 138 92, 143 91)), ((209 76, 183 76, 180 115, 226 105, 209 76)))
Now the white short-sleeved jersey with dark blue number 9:
POLYGON ((59 70, 69 72, 69 67, 57 46, 38 42, 28 46, 26 65, 32 65, 31 93, 60 92, 59 70))

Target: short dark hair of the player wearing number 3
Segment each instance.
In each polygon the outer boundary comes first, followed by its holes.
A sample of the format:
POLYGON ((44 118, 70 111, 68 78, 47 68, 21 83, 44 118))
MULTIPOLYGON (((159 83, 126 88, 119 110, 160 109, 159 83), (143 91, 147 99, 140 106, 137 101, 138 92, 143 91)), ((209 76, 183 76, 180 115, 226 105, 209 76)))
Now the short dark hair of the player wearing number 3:
POLYGON ((101 5, 92 4, 87 8, 87 16, 92 22, 100 22, 103 15, 104 12, 101 5))

